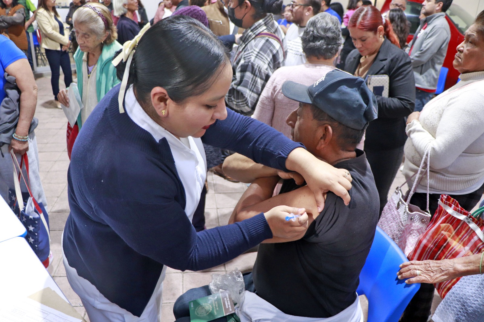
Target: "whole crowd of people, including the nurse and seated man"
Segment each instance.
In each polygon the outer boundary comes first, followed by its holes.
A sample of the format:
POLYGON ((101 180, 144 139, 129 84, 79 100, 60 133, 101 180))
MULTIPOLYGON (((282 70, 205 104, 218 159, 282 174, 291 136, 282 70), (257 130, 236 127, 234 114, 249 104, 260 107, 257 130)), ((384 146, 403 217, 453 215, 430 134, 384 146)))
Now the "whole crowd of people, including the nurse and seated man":
MULTIPOLYGON (((203 270, 260 244, 244 274, 244 321, 360 322, 359 274, 402 162, 411 187, 430 153, 412 205, 424 209, 428 198, 433 214, 441 194, 468 211, 477 205, 484 11, 456 48, 460 81, 435 96, 452 0, 423 0, 410 43, 406 0, 392 0, 384 15, 368 2, 349 0, 345 11, 331 0, 164 0, 150 13, 140 0, 73 0, 65 28, 55 0, 38 8, 0 0, 6 200, 13 150, 28 154, 32 193, 47 206, 34 132, 33 22, 56 106, 72 103, 73 53, 83 108, 67 129, 62 253, 91 321, 159 321, 167 267, 203 270), (374 79, 383 90, 370 86, 374 79), (16 100, 7 83, 17 85, 16 100), (212 229, 207 169, 250 183, 227 225, 212 229)), ((481 254, 395 267, 398 278, 423 283, 401 321, 428 320, 432 283, 481 268, 481 254)), ((188 303, 208 294, 206 286, 181 295, 176 321, 190 321, 188 303)))

